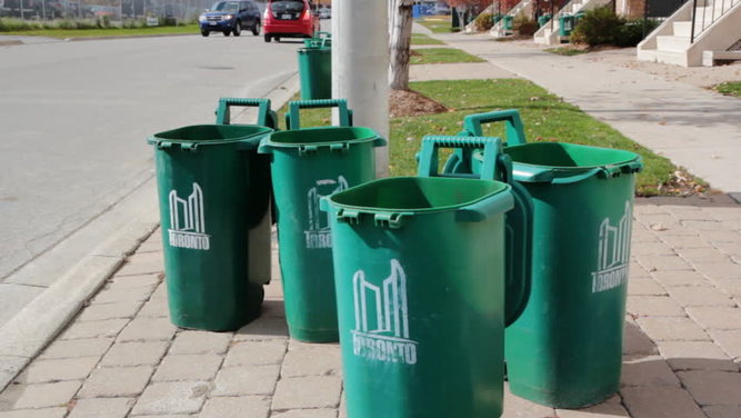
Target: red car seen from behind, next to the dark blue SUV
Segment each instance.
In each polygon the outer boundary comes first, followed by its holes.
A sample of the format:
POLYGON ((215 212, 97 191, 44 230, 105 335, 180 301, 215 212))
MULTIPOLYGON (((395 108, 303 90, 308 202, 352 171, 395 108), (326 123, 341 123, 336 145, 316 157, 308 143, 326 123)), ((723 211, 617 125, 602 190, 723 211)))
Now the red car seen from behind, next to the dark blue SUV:
POLYGON ((273 38, 311 38, 319 32, 319 16, 307 0, 270 0, 262 19, 266 42, 273 38))

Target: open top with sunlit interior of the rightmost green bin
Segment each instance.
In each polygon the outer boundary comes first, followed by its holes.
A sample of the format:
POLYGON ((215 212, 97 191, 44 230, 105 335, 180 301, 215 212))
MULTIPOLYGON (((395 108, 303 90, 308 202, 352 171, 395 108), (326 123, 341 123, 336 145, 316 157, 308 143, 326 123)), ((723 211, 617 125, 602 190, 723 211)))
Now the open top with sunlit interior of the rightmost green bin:
MULTIPOLYGON (((641 170, 634 152, 563 142, 530 142, 505 147, 512 159, 512 175, 523 182, 575 182, 591 176, 618 177, 641 170)), ((483 161, 481 152, 473 158, 483 161)))

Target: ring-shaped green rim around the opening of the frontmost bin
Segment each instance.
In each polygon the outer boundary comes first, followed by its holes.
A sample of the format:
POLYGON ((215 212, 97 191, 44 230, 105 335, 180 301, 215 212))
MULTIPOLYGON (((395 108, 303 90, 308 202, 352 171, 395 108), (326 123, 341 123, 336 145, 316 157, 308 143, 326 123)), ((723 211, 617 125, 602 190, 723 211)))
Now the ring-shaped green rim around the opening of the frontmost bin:
MULTIPOLYGON (((388 185, 390 186, 390 185, 388 185)), ((403 176, 403 177, 389 177, 384 179, 378 179, 378 180, 372 180, 364 182, 362 185, 352 187, 347 190, 342 190, 340 192, 337 192, 332 196, 326 197, 322 199, 322 209, 328 209, 328 205, 333 206, 338 209, 349 209, 349 210, 356 210, 360 213, 388 213, 388 212, 399 212, 403 215, 423 215, 423 213, 437 213, 437 212, 445 212, 445 211, 453 211, 458 209, 463 209, 470 206, 474 206, 477 203, 480 203, 484 200, 491 199, 494 196, 500 196, 502 197, 503 206, 501 213, 504 213, 509 209, 511 209, 512 206, 512 196, 511 196, 511 189, 512 187, 508 183, 497 181, 497 180, 481 180, 481 179, 470 179, 470 178, 452 178, 452 177, 414 177, 414 176, 403 176), (423 181, 423 182, 479 182, 479 183, 491 183, 492 186, 495 186, 495 189, 480 196, 475 199, 467 200, 464 202, 455 203, 455 205, 447 205, 447 206, 439 206, 439 207, 432 207, 432 208, 391 208, 391 207, 368 207, 368 206, 358 206, 358 205, 348 205, 348 203, 342 203, 338 202, 337 198, 342 198, 347 195, 352 195, 358 192, 358 190, 371 188, 371 187, 378 187, 378 185, 383 185, 385 182, 400 182, 400 181, 423 181)))

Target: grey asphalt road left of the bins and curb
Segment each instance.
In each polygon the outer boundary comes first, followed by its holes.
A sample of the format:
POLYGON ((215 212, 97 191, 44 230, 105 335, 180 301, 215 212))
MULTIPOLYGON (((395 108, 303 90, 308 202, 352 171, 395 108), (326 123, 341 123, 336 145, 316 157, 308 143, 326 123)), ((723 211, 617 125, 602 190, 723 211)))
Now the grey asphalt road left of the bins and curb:
POLYGON ((0 283, 151 179, 148 135, 264 96, 299 47, 249 32, 0 47, 0 283))

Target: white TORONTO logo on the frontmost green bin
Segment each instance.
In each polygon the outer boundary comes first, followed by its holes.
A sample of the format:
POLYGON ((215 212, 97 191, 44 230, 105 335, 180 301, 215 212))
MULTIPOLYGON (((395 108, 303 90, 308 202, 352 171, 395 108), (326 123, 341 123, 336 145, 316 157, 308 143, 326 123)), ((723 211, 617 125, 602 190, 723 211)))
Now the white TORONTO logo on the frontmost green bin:
POLYGON ((417 364, 417 341, 409 339, 407 275, 398 260, 391 260, 391 275, 380 286, 358 270, 352 278, 356 356, 387 361, 417 364))

